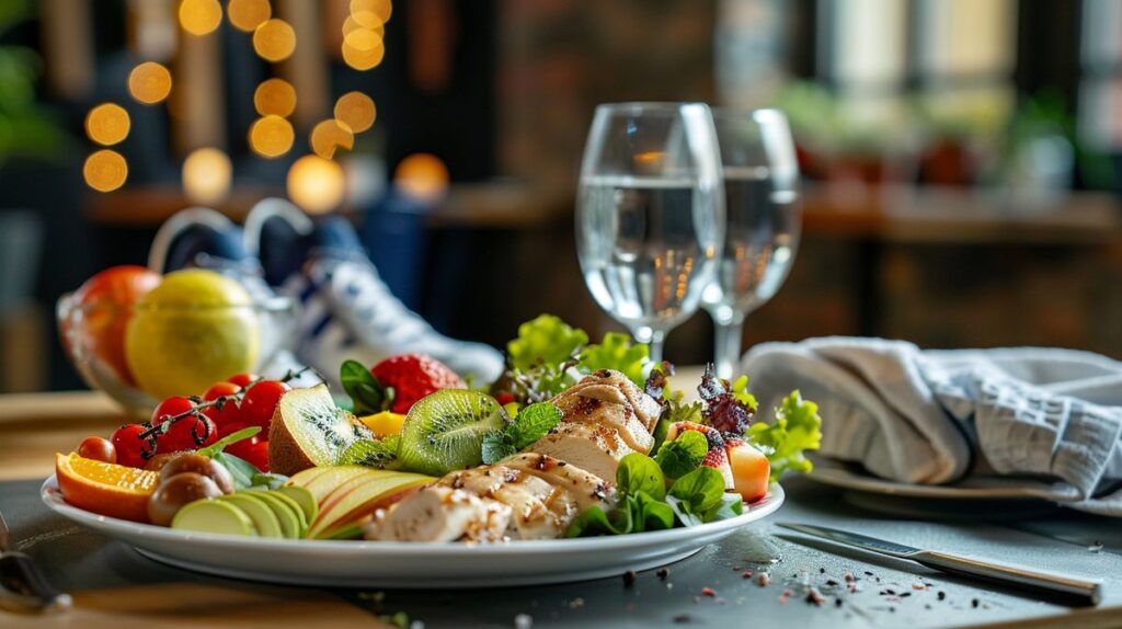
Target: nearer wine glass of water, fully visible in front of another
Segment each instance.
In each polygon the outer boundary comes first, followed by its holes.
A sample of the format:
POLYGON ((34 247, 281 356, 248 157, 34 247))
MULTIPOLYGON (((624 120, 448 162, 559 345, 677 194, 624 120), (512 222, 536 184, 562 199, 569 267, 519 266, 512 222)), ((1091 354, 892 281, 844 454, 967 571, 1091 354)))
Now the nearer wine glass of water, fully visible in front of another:
POLYGON ((703 103, 601 104, 588 132, 577 253, 592 298, 662 360, 725 238, 720 151, 703 103))

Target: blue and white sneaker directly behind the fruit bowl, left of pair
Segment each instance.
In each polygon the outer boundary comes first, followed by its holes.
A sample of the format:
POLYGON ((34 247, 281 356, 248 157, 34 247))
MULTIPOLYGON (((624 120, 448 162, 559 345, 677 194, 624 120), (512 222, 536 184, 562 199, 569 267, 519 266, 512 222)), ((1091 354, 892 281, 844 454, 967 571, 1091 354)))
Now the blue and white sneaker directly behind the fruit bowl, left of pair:
MULTIPOLYGON (((210 269, 236 280, 257 304, 268 305, 278 299, 265 281, 260 263, 246 253, 241 228, 209 207, 182 210, 165 221, 148 251, 148 268, 159 274, 184 268, 210 269)), ((258 313, 261 352, 268 359, 258 371, 266 378, 279 378, 303 368, 292 352, 282 349, 291 335, 291 324, 285 325, 291 316, 266 314, 273 312, 276 311, 265 308, 258 313)), ((307 385, 316 381, 313 374, 303 378, 307 385)))

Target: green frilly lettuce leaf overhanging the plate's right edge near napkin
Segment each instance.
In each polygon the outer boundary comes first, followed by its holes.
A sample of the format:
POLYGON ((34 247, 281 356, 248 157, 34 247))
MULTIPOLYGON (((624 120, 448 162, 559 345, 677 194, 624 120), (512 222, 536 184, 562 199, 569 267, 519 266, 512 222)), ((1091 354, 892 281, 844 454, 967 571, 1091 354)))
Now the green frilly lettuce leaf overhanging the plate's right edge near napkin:
POLYGON ((775 409, 774 423, 753 424, 744 436, 767 456, 771 481, 775 482, 784 472, 807 473, 813 468, 806 452, 821 445, 821 426, 818 405, 802 399, 795 390, 775 409))

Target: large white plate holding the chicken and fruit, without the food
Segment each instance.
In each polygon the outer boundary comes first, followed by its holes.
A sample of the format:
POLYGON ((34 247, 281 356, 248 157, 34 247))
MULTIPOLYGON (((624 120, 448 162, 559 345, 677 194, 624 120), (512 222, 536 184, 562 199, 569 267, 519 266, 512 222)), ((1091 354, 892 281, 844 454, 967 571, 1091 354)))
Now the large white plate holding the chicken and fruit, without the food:
POLYGON ((156 561, 219 576, 348 588, 489 588, 618 576, 689 557, 783 503, 775 483, 744 515, 692 528, 617 537, 469 546, 402 542, 247 538, 175 530, 67 505, 52 475, 40 489, 55 512, 131 544, 156 561))

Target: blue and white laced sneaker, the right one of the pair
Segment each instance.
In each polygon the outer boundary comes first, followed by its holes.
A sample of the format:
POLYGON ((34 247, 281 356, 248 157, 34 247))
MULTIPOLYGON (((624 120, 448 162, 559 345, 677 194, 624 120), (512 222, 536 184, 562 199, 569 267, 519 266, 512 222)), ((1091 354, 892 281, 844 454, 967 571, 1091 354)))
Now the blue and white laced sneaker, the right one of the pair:
POLYGON ((266 262, 274 286, 300 299, 296 355, 327 377, 346 359, 374 364, 403 353, 429 354, 477 382, 503 372, 497 350, 440 334, 395 297, 341 218, 313 225, 287 201, 263 201, 246 219, 246 250, 266 262))

